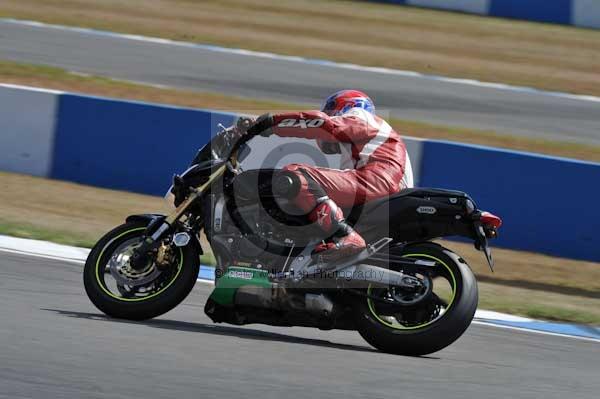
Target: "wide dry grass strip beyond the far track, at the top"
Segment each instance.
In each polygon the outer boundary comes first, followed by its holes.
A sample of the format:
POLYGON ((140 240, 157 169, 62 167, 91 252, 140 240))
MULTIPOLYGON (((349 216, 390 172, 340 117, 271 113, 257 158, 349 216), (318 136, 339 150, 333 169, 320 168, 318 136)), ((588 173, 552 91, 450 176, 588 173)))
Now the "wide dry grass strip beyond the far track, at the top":
POLYGON ((600 31, 318 0, 3 0, 0 16, 600 95, 600 31))

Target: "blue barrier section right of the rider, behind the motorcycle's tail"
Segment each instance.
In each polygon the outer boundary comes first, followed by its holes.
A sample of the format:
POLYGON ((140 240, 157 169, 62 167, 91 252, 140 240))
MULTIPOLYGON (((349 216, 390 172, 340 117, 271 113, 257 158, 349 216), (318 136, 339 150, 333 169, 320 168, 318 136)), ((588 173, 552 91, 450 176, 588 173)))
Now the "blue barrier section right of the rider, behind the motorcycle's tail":
POLYGON ((466 191, 502 217, 494 245, 600 261, 600 164, 425 142, 421 185, 466 191))

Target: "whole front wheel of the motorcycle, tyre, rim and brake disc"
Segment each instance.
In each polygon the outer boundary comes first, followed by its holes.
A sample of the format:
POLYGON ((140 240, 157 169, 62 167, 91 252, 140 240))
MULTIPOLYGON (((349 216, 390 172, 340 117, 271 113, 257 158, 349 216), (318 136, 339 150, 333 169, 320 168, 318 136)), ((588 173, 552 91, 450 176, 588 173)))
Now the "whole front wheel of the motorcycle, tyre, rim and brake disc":
POLYGON ((193 241, 183 248, 165 240, 142 270, 129 267, 146 230, 143 222, 125 223, 92 248, 83 272, 92 303, 111 317, 145 320, 177 306, 190 293, 200 268, 193 241))

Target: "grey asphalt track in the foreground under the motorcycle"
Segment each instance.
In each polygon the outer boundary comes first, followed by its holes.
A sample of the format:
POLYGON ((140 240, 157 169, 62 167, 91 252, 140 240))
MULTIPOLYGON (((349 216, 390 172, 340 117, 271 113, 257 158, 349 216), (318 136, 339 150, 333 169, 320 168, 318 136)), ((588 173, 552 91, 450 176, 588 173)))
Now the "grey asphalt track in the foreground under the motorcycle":
POLYGON ((215 325, 198 283, 148 322, 108 319, 82 266, 0 252, 0 398, 596 398, 600 344, 472 325, 432 356, 357 333, 215 325))

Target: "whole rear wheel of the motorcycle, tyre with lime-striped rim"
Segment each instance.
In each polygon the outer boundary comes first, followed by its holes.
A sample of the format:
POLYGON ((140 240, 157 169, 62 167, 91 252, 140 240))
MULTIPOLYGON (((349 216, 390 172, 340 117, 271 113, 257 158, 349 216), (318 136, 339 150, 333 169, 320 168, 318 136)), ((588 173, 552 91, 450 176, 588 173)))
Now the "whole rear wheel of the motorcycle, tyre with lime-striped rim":
POLYGON ((431 287, 421 300, 393 287, 369 287, 357 305, 357 329, 375 348, 399 355, 421 356, 456 341, 477 309, 477 282, 467 263, 452 251, 425 243, 405 248, 402 257, 435 261, 417 273, 431 287))

